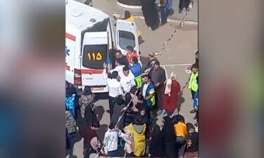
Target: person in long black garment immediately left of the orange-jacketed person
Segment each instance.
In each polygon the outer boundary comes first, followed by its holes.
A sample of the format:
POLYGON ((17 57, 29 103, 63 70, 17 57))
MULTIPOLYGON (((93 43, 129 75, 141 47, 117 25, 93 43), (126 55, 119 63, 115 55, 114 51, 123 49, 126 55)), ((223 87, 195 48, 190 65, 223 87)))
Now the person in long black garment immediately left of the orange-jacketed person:
POLYGON ((172 119, 170 117, 164 117, 164 126, 161 130, 163 135, 164 145, 165 145, 165 155, 166 157, 177 157, 176 152, 176 136, 175 130, 173 128, 172 119))

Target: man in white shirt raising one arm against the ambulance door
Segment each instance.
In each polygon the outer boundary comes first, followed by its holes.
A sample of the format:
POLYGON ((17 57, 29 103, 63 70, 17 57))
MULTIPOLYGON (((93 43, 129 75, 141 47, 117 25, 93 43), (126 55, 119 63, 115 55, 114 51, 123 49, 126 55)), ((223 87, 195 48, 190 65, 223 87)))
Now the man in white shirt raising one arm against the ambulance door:
POLYGON ((110 110, 110 117, 113 114, 113 106, 115 105, 115 99, 119 95, 124 95, 122 91, 122 86, 120 81, 118 81, 118 72, 113 71, 112 74, 106 73, 107 65, 103 65, 103 77, 106 79, 106 84, 108 85, 109 92, 108 92, 108 101, 109 101, 109 110, 110 110))

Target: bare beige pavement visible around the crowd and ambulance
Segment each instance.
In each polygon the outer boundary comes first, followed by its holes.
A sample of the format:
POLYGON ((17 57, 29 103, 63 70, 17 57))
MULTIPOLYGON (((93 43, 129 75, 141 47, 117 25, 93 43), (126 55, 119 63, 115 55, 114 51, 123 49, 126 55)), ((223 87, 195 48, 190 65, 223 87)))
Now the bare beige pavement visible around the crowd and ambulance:
MULTIPOLYGON (((95 8, 108 13, 108 15, 113 15, 113 13, 117 12, 116 5, 116 0, 93 1, 93 6, 95 8)), ((197 3, 194 5, 197 5, 197 3)), ((188 16, 189 14, 187 15, 187 17, 188 16)), ((177 23, 168 22, 155 31, 152 31, 151 29, 145 27, 145 22, 141 19, 136 19, 136 25, 138 29, 142 30, 142 39, 144 40, 144 43, 140 44, 139 50, 142 52, 142 62, 146 62, 146 57, 149 53, 153 51, 161 51, 161 46, 163 46, 164 41, 170 37, 170 34, 176 27, 177 23)), ((177 32, 170 40, 168 46, 165 47, 165 50, 162 52, 161 56, 158 57, 158 60, 161 62, 162 67, 165 69, 167 77, 170 77, 171 72, 175 72, 177 74, 177 80, 180 82, 182 88, 187 85, 187 81, 189 79, 189 74, 185 72, 185 69, 187 66, 195 62, 194 53, 197 50, 198 25, 185 24, 183 29, 181 29, 180 32, 177 32)), ((191 91, 187 87, 185 87, 182 89, 182 95, 180 95, 179 98, 179 113, 184 116, 186 122, 195 124, 196 120, 194 120, 194 114, 189 113, 192 110, 192 104, 193 100, 191 99, 191 91)), ((96 107, 98 107, 97 113, 99 114, 101 124, 101 128, 98 131, 99 140, 102 141, 104 132, 107 129, 108 124, 110 123, 110 116, 106 112, 106 110, 108 110, 108 100, 98 100, 95 105, 96 107)), ((162 115, 158 116, 157 124, 160 125, 161 121, 162 115)), ((83 139, 76 138, 76 143, 73 147, 74 157, 83 157, 82 151, 83 139)), ((90 157, 94 156, 95 155, 92 154, 90 157)))

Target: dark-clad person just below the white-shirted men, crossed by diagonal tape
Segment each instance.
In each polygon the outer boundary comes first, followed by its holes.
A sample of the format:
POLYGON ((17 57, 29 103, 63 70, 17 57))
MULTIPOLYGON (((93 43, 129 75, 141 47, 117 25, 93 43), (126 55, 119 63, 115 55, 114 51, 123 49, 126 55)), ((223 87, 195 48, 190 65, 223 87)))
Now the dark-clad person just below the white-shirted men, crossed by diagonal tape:
MULTIPOLYGON (((122 115, 122 109, 125 108, 125 101, 123 100, 122 96, 118 96, 118 98, 115 101, 115 105, 113 107, 113 115, 111 118, 111 123, 117 124, 119 117, 122 115)), ((124 119, 125 115, 122 116, 120 121, 118 122, 117 126, 118 129, 123 129, 124 128, 124 119)))

